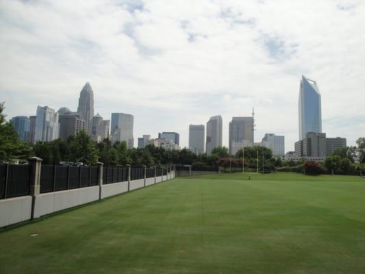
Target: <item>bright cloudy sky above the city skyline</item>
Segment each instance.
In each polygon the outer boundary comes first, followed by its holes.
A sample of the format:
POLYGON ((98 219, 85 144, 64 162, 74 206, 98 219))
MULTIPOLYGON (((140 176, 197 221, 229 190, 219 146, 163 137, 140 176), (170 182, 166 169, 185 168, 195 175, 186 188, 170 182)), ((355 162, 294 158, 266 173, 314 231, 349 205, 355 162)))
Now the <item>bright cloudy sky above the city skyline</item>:
POLYGON ((255 142, 299 140, 301 75, 316 80, 322 127, 348 145, 365 136, 364 0, 0 0, 0 101, 77 110, 86 82, 95 114, 134 115, 134 138, 251 116, 255 142))

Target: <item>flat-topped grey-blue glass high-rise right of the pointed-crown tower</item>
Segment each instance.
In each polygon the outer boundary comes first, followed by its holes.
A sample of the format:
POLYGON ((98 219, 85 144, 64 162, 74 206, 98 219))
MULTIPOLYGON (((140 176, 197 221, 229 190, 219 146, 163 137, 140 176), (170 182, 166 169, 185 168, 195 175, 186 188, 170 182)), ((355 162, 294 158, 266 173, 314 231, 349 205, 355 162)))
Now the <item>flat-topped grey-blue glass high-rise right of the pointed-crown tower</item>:
POLYGON ((131 114, 112 113, 112 142, 125 141, 128 149, 134 147, 133 120, 134 117, 131 114))

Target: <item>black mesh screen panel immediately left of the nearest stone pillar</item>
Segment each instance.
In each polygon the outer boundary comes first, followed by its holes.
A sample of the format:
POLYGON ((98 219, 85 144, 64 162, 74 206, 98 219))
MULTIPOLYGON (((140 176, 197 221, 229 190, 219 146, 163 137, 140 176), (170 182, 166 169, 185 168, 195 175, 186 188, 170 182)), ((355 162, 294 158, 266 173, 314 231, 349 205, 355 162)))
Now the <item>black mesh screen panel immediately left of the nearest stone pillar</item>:
POLYGON ((5 198, 29 195, 30 166, 28 164, 10 164, 8 171, 8 187, 5 198))

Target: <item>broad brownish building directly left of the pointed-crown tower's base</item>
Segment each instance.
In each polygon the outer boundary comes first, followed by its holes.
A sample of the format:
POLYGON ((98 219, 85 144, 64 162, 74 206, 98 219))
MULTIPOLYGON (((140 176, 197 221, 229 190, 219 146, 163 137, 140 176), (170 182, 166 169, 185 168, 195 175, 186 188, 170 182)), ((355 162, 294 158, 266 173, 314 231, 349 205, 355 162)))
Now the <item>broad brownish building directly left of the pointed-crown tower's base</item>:
POLYGON ((81 119, 81 114, 71 112, 68 108, 58 110, 58 122, 60 123, 60 138, 76 135, 81 130, 86 132, 86 121, 81 119))

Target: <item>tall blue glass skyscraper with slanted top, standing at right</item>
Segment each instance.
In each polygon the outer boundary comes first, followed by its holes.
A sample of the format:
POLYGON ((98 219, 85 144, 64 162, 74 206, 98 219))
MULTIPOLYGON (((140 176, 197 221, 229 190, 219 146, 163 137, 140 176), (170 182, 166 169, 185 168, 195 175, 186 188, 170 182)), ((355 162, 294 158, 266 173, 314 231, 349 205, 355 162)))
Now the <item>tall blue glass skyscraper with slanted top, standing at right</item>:
POLYGON ((320 93, 316 82, 302 76, 299 91, 299 140, 308 132, 322 133, 320 93))

